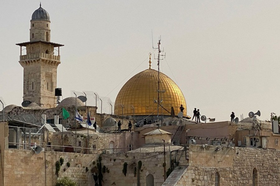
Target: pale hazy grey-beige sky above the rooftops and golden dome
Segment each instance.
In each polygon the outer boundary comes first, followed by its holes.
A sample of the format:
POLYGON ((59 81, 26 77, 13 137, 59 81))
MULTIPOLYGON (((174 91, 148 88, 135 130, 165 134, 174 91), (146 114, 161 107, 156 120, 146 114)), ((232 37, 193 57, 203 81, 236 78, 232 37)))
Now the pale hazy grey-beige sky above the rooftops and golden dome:
MULTIPOLYGON (((124 83, 149 67, 161 35, 161 72, 173 79, 188 104, 216 121, 280 115, 280 1, 77 1, 42 0, 51 42, 60 48, 58 87, 95 91, 114 102, 124 83)), ((40 1, 0 6, 0 97, 20 105, 20 47, 29 41, 30 19, 40 1)), ((156 60, 152 60, 156 69, 156 60)), ((164 100, 163 100, 164 101, 164 100)), ((1 106, 2 107, 2 106, 1 106)), ((0 109, 2 110, 2 109, 0 109)))

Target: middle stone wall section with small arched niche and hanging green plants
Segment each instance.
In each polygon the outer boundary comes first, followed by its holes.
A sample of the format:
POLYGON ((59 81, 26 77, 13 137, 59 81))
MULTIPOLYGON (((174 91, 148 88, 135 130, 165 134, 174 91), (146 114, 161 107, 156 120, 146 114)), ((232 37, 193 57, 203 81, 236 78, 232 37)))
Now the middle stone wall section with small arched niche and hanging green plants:
MULTIPOLYGON (((172 158, 174 158, 174 153, 172 158)), ((169 159, 170 152, 166 152, 166 171, 170 167, 169 159)), ((102 155, 102 166, 105 166, 110 171, 103 175, 104 185, 137 186, 138 175, 137 173, 136 175, 134 174, 134 168, 138 167, 139 161, 142 162, 142 167, 139 171, 139 181, 141 186, 146 186, 147 175, 153 175, 155 186, 163 184, 164 154, 163 152, 152 152, 102 155), (128 164, 126 176, 122 173, 125 162, 128 164)))

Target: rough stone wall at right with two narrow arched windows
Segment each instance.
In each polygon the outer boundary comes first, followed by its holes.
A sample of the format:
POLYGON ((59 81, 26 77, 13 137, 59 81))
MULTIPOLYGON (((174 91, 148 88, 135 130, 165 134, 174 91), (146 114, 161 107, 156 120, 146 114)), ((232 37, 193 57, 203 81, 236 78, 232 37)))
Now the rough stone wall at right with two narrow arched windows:
MULTIPOLYGON (((279 185, 279 150, 259 148, 202 148, 191 145, 189 167, 177 186, 215 184, 215 174, 220 175, 220 185, 252 185, 253 169, 257 170, 258 185, 279 185)), ((172 173, 171 173, 172 174, 172 173)), ((168 184, 164 184, 168 186, 168 184)))

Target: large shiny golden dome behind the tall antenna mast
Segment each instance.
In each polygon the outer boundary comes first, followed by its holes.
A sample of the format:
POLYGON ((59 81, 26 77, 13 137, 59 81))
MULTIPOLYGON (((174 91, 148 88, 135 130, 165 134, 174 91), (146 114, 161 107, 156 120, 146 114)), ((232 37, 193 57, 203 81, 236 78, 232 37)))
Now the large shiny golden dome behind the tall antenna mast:
MULTIPOLYGON (((159 115, 170 115, 171 106, 174 107, 175 115, 180 112, 180 105, 184 106, 184 116, 187 106, 184 95, 176 83, 163 73, 159 73, 160 93, 159 115), (166 110, 168 111, 166 111, 166 110)), ((158 100, 158 71, 151 68, 144 70, 130 78, 119 91, 114 105, 116 115, 157 115, 158 100)))

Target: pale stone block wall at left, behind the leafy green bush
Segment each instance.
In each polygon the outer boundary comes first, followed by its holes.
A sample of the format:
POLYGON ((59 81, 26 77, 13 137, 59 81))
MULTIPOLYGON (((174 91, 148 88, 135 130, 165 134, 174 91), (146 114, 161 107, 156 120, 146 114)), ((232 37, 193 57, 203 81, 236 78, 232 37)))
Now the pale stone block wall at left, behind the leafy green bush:
POLYGON ((5 150, 4 185, 53 186, 56 180, 69 177, 79 186, 93 183, 91 168, 96 162, 93 154, 41 152, 35 154, 31 150, 5 150), (64 163, 58 176, 55 175, 55 163, 60 158, 64 163), (70 166, 67 166, 67 162, 70 166))

